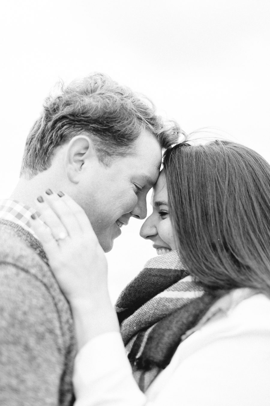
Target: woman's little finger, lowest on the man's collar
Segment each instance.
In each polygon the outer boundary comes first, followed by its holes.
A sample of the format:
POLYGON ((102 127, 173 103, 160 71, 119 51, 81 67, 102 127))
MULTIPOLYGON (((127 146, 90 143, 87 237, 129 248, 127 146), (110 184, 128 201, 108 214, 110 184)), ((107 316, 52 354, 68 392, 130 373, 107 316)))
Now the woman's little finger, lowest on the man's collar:
POLYGON ((57 241, 53 238, 53 235, 48 227, 37 217, 36 214, 32 214, 30 217, 30 227, 40 239, 45 252, 49 258, 54 258, 60 252, 60 247, 57 241))

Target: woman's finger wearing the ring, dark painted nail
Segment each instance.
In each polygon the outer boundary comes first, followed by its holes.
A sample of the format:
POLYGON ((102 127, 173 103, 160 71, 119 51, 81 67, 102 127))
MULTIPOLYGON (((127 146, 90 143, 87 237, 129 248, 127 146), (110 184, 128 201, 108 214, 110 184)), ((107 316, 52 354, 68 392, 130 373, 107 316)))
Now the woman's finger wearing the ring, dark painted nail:
POLYGON ((40 212, 40 220, 43 220, 49 227, 51 234, 55 240, 64 239, 68 235, 68 231, 64 227, 60 218, 55 214, 53 209, 46 201, 45 195, 39 196, 36 201, 38 212, 40 212))

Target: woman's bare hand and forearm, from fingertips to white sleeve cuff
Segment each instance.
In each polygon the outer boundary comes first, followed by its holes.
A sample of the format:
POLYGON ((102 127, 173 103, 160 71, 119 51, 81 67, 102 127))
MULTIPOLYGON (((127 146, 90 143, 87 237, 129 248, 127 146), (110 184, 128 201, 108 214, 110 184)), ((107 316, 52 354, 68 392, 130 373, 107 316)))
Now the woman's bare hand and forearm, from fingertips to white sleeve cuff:
POLYGON ((31 227, 70 302, 79 347, 96 335, 119 331, 106 257, 85 212, 68 195, 51 190, 38 197, 36 206, 41 216, 32 216, 31 227))

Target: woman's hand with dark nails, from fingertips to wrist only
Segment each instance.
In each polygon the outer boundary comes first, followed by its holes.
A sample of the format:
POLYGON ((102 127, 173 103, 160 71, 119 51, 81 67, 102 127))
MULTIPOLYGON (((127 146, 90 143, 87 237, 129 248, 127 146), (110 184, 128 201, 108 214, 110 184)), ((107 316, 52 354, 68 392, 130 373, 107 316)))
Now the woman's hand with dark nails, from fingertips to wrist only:
POLYGON ((106 289, 106 258, 84 210, 64 194, 44 194, 41 198, 37 208, 48 227, 38 218, 31 221, 31 227, 66 297, 82 299, 90 292, 106 289))

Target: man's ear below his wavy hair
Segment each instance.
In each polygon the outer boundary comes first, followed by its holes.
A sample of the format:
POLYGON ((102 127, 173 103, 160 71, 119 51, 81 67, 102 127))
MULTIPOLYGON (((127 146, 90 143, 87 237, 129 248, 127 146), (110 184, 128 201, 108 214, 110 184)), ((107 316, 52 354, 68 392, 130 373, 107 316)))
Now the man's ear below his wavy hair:
POLYGON ((96 157, 96 152, 90 138, 85 135, 77 135, 70 140, 66 151, 66 173, 72 183, 78 183, 83 166, 91 158, 96 157))

